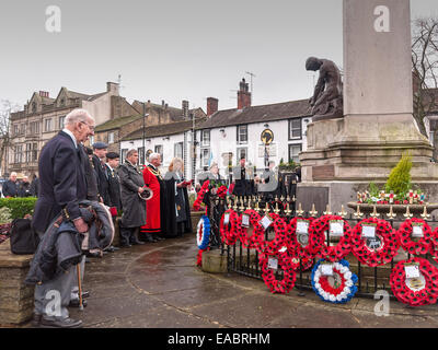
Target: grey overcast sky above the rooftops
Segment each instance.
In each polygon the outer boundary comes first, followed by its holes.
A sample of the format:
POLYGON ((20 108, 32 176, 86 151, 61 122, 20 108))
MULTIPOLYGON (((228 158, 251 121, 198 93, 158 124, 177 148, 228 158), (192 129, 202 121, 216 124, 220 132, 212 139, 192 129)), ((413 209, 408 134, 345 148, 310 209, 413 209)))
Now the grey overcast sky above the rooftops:
MULTIPOLYGON (((237 106, 253 72, 253 105, 308 98, 309 56, 343 65, 342 0, 2 0, 0 100, 23 105, 61 86, 95 94, 122 74, 132 100, 206 110, 237 106), (46 31, 46 8, 61 32, 46 31)), ((411 0, 412 19, 438 16, 437 0, 411 0)))

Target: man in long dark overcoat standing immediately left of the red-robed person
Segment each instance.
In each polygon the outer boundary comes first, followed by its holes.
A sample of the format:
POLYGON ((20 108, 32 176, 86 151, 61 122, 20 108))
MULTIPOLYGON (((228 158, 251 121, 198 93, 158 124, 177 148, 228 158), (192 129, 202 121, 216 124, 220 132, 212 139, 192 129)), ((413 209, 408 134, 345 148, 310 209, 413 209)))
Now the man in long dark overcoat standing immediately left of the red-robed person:
POLYGON ((136 235, 136 232, 146 224, 146 205, 139 196, 145 191, 145 180, 142 173, 137 168, 137 150, 129 150, 125 163, 117 172, 122 187, 120 246, 123 247, 145 244, 136 235))

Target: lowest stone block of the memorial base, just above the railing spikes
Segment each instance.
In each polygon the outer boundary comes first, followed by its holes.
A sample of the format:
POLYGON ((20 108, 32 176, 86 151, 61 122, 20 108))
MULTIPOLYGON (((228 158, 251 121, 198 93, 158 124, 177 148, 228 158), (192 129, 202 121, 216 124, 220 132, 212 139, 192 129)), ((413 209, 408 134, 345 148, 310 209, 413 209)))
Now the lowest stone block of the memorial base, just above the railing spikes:
MULTIPOLYGON (((341 206, 344 205, 344 210, 353 212, 351 208, 347 207, 348 202, 357 201, 357 192, 368 189, 369 182, 312 182, 300 183, 297 186, 297 208, 301 203, 302 210, 310 211, 312 205, 315 205, 318 215, 322 215, 326 206, 333 213, 341 211, 341 206)), ((384 183, 376 182, 379 188, 382 188, 384 183)), ((426 194, 426 201, 429 203, 438 203, 438 186, 434 182, 415 183, 426 194)), ((435 211, 428 213, 437 213, 435 211)), ((388 210, 389 212, 389 210, 388 210)))

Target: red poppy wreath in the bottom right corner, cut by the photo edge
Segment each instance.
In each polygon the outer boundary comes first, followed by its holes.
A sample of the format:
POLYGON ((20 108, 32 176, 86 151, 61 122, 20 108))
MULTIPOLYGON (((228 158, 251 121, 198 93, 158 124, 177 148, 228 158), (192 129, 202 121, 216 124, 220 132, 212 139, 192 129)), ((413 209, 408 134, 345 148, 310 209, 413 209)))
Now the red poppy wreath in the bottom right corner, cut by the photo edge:
POLYGON ((411 306, 435 304, 438 298, 438 269, 424 258, 402 260, 391 271, 391 290, 395 298, 411 306), (406 278, 405 265, 416 262, 419 276, 406 278))

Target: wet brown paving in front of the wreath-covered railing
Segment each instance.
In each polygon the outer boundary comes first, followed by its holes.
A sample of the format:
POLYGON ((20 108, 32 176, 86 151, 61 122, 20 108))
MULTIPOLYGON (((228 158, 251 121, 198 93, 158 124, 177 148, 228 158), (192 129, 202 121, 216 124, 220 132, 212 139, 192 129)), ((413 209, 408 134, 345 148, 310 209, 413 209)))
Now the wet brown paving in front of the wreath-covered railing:
POLYGON ((90 328, 295 328, 438 327, 438 305, 408 307, 355 298, 346 305, 322 302, 312 291, 273 294, 261 280, 203 272, 196 267, 194 234, 122 248, 85 267, 83 312, 70 310, 90 328))

